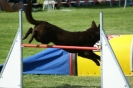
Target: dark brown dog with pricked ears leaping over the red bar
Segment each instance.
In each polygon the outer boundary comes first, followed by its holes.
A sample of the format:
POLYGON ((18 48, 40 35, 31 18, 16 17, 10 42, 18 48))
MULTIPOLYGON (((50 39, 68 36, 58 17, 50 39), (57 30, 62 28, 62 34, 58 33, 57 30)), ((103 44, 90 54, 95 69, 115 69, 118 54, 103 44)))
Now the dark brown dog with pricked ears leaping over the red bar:
MULTIPOLYGON (((50 42, 53 42, 56 45, 93 47, 94 44, 100 40, 100 25, 97 27, 94 21, 92 21, 91 27, 86 31, 69 32, 46 21, 35 20, 32 17, 31 10, 32 3, 28 1, 25 12, 26 19, 30 24, 35 25, 34 28, 29 28, 23 37, 24 40, 31 34, 29 43, 35 39, 37 42, 41 42, 42 44, 49 44, 50 42)), ((100 56, 95 54, 93 50, 64 50, 70 53, 77 53, 81 57, 91 59, 96 63, 96 65, 100 66, 100 56)))

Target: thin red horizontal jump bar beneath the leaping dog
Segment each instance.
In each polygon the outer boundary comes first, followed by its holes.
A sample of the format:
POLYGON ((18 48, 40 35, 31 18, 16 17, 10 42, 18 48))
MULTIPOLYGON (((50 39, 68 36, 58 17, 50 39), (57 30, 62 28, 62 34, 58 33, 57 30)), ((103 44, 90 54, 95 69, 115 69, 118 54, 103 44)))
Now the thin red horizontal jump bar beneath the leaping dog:
POLYGON ((62 45, 46 45, 46 44, 22 44, 22 47, 32 48, 61 48, 61 49, 75 49, 75 50, 100 50, 95 47, 80 47, 80 46, 62 46, 62 45))

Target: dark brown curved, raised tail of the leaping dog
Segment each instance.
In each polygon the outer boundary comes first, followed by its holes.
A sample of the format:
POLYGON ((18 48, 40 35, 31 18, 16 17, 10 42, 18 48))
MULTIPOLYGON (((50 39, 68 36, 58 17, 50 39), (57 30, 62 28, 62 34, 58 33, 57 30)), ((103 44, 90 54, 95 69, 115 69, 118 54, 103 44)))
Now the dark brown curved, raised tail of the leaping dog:
POLYGON ((30 0, 27 0, 27 7, 25 12, 27 21, 33 25, 40 24, 42 21, 35 20, 31 12, 32 12, 32 2, 30 2, 30 0))

